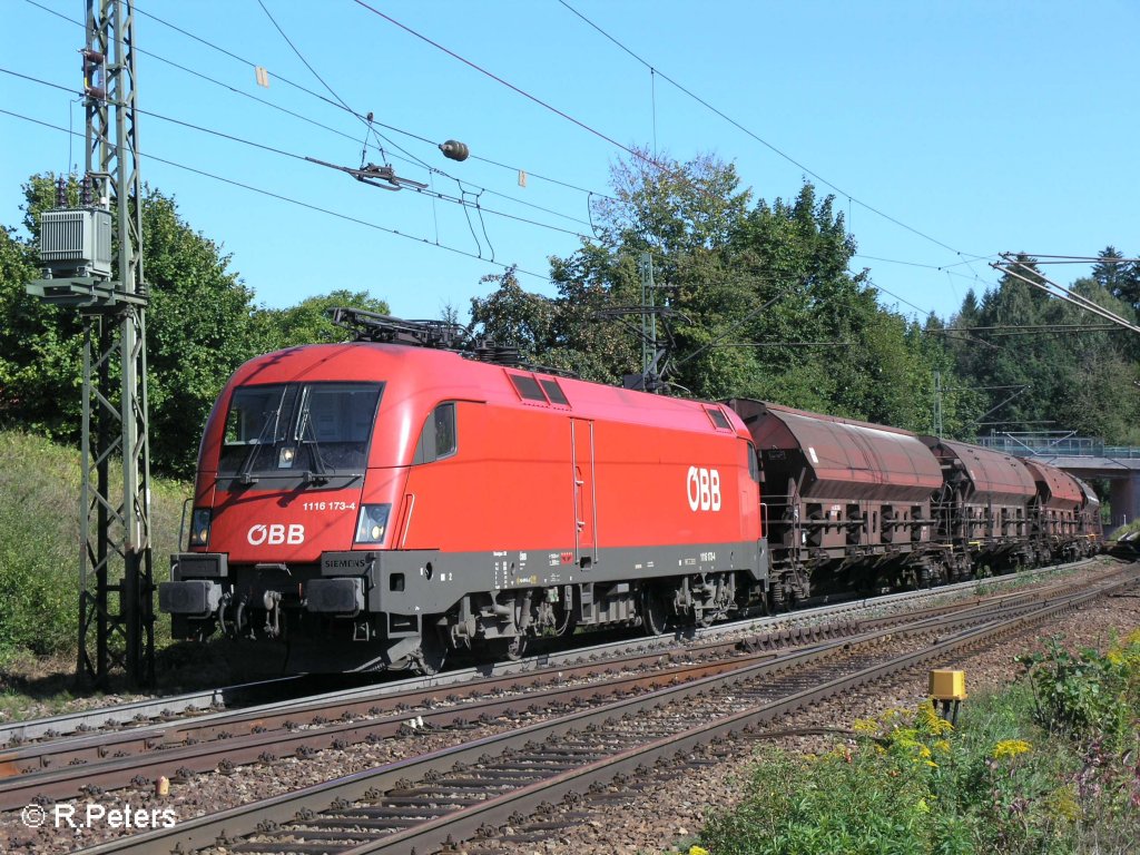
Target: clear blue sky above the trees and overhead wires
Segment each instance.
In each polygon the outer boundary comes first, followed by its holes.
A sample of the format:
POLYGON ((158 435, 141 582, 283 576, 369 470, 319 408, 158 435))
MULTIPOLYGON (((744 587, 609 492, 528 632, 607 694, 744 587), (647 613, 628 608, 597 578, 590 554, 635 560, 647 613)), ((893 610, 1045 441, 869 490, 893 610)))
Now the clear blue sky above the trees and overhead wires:
MULTIPOLYGON (((996 282, 987 261, 1002 251, 1094 255, 1113 244, 1140 254, 1133 0, 567 1, 660 74, 559 0, 369 3, 515 89, 356 0, 263 0, 336 96, 413 135, 376 128, 396 173, 478 196, 481 218, 288 156, 358 166, 366 125, 329 103, 258 0, 137 3, 137 43, 149 54, 138 59, 139 107, 157 114, 140 117, 142 174, 271 307, 348 287, 402 317, 448 304, 465 317, 490 288, 480 278, 512 263, 524 287, 552 294, 547 256, 589 234, 589 194, 609 192, 624 156, 597 135, 679 161, 732 161, 768 201, 795 197, 805 178, 834 193, 858 243, 854 264, 905 315, 948 316, 970 287, 996 282), (250 63, 268 70, 268 89, 250 63), (434 144, 451 138, 486 160, 443 158, 434 144)), ((83 30, 44 8, 78 22, 84 2, 35 2, 0 0, 0 68, 78 89, 83 30)), ((0 73, 0 111, 81 133, 73 98, 0 73)), ((0 113, 0 223, 19 222, 22 181, 82 166, 82 153, 81 138, 0 113)), ((373 147, 367 160, 382 156, 373 147)), ((1054 272, 1068 283, 1088 268, 1054 272)))

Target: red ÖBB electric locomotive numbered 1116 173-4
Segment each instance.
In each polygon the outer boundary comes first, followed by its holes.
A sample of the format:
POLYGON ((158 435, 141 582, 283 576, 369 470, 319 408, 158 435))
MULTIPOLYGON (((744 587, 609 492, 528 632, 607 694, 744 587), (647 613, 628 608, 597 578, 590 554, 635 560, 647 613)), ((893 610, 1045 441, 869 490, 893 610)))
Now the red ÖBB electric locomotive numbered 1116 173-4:
POLYGON ((160 586, 176 637, 280 641, 299 670, 431 671, 454 649, 764 603, 757 458, 731 409, 480 361, 438 324, 341 318, 372 341, 258 357, 214 405, 189 548, 160 586))

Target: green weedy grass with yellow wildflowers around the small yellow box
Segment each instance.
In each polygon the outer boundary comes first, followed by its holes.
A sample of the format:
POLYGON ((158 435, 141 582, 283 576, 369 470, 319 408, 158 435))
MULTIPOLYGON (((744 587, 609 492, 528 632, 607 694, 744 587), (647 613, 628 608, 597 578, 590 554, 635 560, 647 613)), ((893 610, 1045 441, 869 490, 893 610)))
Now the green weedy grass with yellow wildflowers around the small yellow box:
POLYGON ((927 702, 857 722, 817 757, 769 750, 712 855, 1130 853, 1140 847, 1140 630, 1101 654, 1054 643, 971 699, 955 730, 927 702))

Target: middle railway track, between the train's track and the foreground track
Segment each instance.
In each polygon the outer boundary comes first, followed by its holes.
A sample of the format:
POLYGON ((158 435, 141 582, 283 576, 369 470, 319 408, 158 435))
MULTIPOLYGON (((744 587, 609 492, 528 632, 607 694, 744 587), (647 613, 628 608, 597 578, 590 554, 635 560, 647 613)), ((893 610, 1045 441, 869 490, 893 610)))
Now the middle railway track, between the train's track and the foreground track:
MULTIPOLYGON (((1064 587, 1066 583, 1060 585, 1064 587)), ((1041 596, 1040 589, 995 594, 972 601, 972 608, 1024 609, 1041 596)), ((511 710, 513 698, 534 693, 544 685, 570 692, 569 686, 602 676, 608 687, 614 689, 624 685, 626 677, 641 678, 640 675, 659 674, 662 669, 670 679, 681 681, 707 667, 703 662, 714 661, 719 669, 739 667, 749 656, 763 660, 771 658, 773 653, 768 651, 775 649, 853 637, 951 610, 961 613, 962 608, 962 603, 942 604, 905 616, 785 626, 744 638, 739 634, 727 638, 710 634, 671 651, 654 650, 661 640, 646 638, 643 641, 650 650, 643 651, 634 644, 627 645, 633 649, 621 654, 613 650, 608 651, 609 656, 579 652, 575 665, 559 661, 539 668, 537 661, 515 663, 519 668, 530 666, 523 671, 529 676, 522 683, 519 673, 481 679, 466 675, 465 681, 447 687, 442 700, 438 681, 404 681, 162 726, 39 742, 0 756, 0 809, 15 809, 36 800, 100 797, 127 787, 146 788, 160 776, 185 782, 199 773, 233 772, 243 764, 269 764, 290 756, 307 758, 326 749, 391 739, 417 726, 435 730, 454 726, 453 719, 490 722, 511 710)), ((534 706, 549 701, 556 706, 560 702, 556 694, 551 692, 548 698, 529 702, 534 706)))

